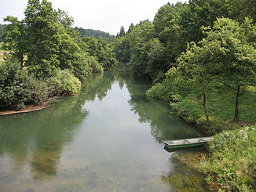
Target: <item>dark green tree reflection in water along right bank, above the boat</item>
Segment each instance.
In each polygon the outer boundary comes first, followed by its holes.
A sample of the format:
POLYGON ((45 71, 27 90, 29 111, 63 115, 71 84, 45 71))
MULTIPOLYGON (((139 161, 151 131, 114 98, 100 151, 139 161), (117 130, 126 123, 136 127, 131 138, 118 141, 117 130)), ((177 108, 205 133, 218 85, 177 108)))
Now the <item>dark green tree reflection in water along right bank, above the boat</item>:
POLYGON ((179 139, 181 137, 199 136, 199 133, 189 128, 185 122, 170 116, 170 107, 168 103, 160 100, 149 100, 145 96, 150 83, 144 79, 134 78, 126 64, 119 66, 118 80, 125 82, 130 92, 131 99, 128 103, 131 110, 138 114, 141 122, 148 122, 151 125, 152 136, 162 143, 163 139, 179 139))

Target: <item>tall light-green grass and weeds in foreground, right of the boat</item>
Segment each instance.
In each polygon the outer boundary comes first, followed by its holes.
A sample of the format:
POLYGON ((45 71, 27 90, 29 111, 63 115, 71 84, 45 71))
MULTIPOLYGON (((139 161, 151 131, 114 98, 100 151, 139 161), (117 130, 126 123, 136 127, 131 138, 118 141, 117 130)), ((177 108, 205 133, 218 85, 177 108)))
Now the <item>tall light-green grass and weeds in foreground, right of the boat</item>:
POLYGON ((256 190, 256 125, 216 134, 199 170, 218 191, 256 190))

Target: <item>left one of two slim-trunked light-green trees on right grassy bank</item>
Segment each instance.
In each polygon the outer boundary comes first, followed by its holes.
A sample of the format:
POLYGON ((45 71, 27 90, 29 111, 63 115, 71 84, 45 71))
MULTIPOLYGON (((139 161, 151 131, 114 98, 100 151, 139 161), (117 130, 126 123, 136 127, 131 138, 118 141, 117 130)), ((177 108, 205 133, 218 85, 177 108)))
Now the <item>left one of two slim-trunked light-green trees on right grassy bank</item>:
POLYGON ((193 92, 203 99, 203 112, 207 121, 207 96, 218 87, 220 68, 216 63, 222 58, 223 52, 220 42, 206 42, 205 39, 199 45, 192 42, 187 51, 177 59, 177 70, 172 69, 169 72, 175 73, 173 76, 178 93, 184 96, 193 92))

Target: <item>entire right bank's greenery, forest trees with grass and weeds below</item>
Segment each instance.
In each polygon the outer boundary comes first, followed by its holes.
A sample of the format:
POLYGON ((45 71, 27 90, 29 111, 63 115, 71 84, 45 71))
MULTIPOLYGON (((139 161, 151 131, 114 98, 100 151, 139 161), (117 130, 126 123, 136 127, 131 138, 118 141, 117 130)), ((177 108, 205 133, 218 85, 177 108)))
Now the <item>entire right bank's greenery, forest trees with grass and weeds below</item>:
POLYGON ((148 98, 215 135, 198 168, 221 191, 256 190, 255 22, 253 0, 190 0, 115 39, 117 59, 152 82, 148 98))

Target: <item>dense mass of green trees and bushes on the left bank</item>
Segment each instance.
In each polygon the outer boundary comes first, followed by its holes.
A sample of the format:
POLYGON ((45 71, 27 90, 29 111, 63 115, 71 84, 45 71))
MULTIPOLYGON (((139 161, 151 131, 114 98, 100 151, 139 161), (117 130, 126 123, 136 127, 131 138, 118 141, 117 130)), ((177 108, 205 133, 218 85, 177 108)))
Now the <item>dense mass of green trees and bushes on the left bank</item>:
POLYGON ((71 16, 53 9, 51 2, 29 0, 24 14, 24 20, 4 19, 10 24, 2 34, 2 47, 8 53, 1 66, 6 71, 0 77, 2 108, 79 92, 81 81, 92 73, 115 69, 117 60, 108 42, 91 37, 92 45, 82 39, 71 27, 71 16), (93 54, 95 47, 97 54, 93 54))

